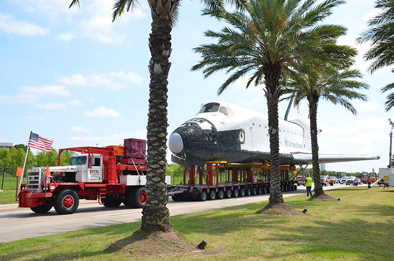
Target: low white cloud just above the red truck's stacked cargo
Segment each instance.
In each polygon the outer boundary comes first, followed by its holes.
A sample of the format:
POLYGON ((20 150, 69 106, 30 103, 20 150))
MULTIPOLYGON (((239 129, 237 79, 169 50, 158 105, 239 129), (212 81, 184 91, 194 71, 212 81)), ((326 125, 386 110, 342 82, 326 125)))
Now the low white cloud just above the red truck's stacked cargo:
POLYGON ((73 136, 67 139, 67 144, 70 146, 96 146, 105 147, 109 145, 123 145, 126 138, 137 138, 146 140, 146 130, 136 130, 133 132, 121 132, 109 136, 73 136))

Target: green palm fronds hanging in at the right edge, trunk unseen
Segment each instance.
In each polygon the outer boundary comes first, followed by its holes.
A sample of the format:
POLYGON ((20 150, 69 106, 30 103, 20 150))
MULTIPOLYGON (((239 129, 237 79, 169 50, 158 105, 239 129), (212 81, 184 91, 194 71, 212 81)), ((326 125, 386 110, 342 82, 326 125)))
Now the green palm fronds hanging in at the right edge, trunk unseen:
MULTIPOLYGON (((372 47, 364 54, 365 61, 372 61, 368 70, 375 70, 394 65, 394 0, 376 0, 375 8, 382 12, 368 21, 369 30, 358 38, 359 43, 371 41, 372 47)), ((394 73, 394 69, 391 70, 394 73)), ((394 90, 394 82, 381 89, 382 93, 394 90)), ((386 111, 394 106, 394 92, 385 102, 386 111)))

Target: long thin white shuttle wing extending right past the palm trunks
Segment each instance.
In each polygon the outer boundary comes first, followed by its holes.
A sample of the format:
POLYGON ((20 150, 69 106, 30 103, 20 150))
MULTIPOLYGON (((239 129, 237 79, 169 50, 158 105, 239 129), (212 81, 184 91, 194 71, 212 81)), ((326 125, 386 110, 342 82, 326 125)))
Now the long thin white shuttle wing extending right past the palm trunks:
MULTIPOLYGON (((311 153, 293 153, 295 161, 302 163, 312 163, 311 153)), ((352 162, 352 161, 366 161, 379 160, 377 155, 354 155, 354 154, 320 154, 319 163, 335 163, 335 162, 352 162)))

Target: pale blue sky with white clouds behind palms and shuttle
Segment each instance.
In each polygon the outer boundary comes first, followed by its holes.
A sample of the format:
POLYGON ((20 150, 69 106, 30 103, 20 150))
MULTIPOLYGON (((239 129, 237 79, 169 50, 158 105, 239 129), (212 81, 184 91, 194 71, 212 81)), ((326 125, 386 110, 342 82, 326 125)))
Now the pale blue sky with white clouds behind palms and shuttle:
MULTIPOLYGON (((380 89, 393 82, 389 67, 367 72, 362 54, 369 44, 355 38, 377 11, 372 0, 348 0, 333 10, 327 23, 348 28, 338 41, 358 49, 355 68, 370 85, 367 102, 354 101, 355 116, 345 108, 320 101, 318 135, 321 153, 374 154, 380 160, 330 163, 327 170, 375 171, 389 163, 394 111, 385 112, 380 89)), ((0 2, 0 142, 27 144, 30 131, 54 140, 53 148, 123 144, 125 138, 146 139, 149 98, 149 6, 122 15, 112 23, 110 0, 2 0, 0 2)), ((172 63, 168 76, 168 135, 193 118, 201 103, 222 100, 267 112, 263 87, 245 89, 240 79, 221 96, 225 73, 204 79, 192 72, 200 56, 193 48, 212 42, 207 29, 225 24, 201 16, 199 1, 182 1, 178 24, 171 32, 172 63)), ((287 102, 279 104, 284 118, 287 102)), ((303 103, 294 117, 307 117, 303 103)), ((169 150, 167 159, 170 163, 169 150)), ((35 149, 33 152, 36 153, 35 149)))

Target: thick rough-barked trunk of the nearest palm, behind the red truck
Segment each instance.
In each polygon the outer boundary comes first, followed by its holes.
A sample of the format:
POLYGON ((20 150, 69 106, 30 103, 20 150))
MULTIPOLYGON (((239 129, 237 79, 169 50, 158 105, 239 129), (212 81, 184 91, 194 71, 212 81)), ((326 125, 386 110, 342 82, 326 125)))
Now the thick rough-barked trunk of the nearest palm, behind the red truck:
POLYGON ((150 72, 149 113, 147 126, 147 202, 142 209, 141 230, 167 231, 171 229, 166 207, 165 150, 167 148, 167 76, 171 63, 171 26, 173 6, 177 1, 148 0, 152 13, 152 33, 149 49, 152 58, 150 72))

